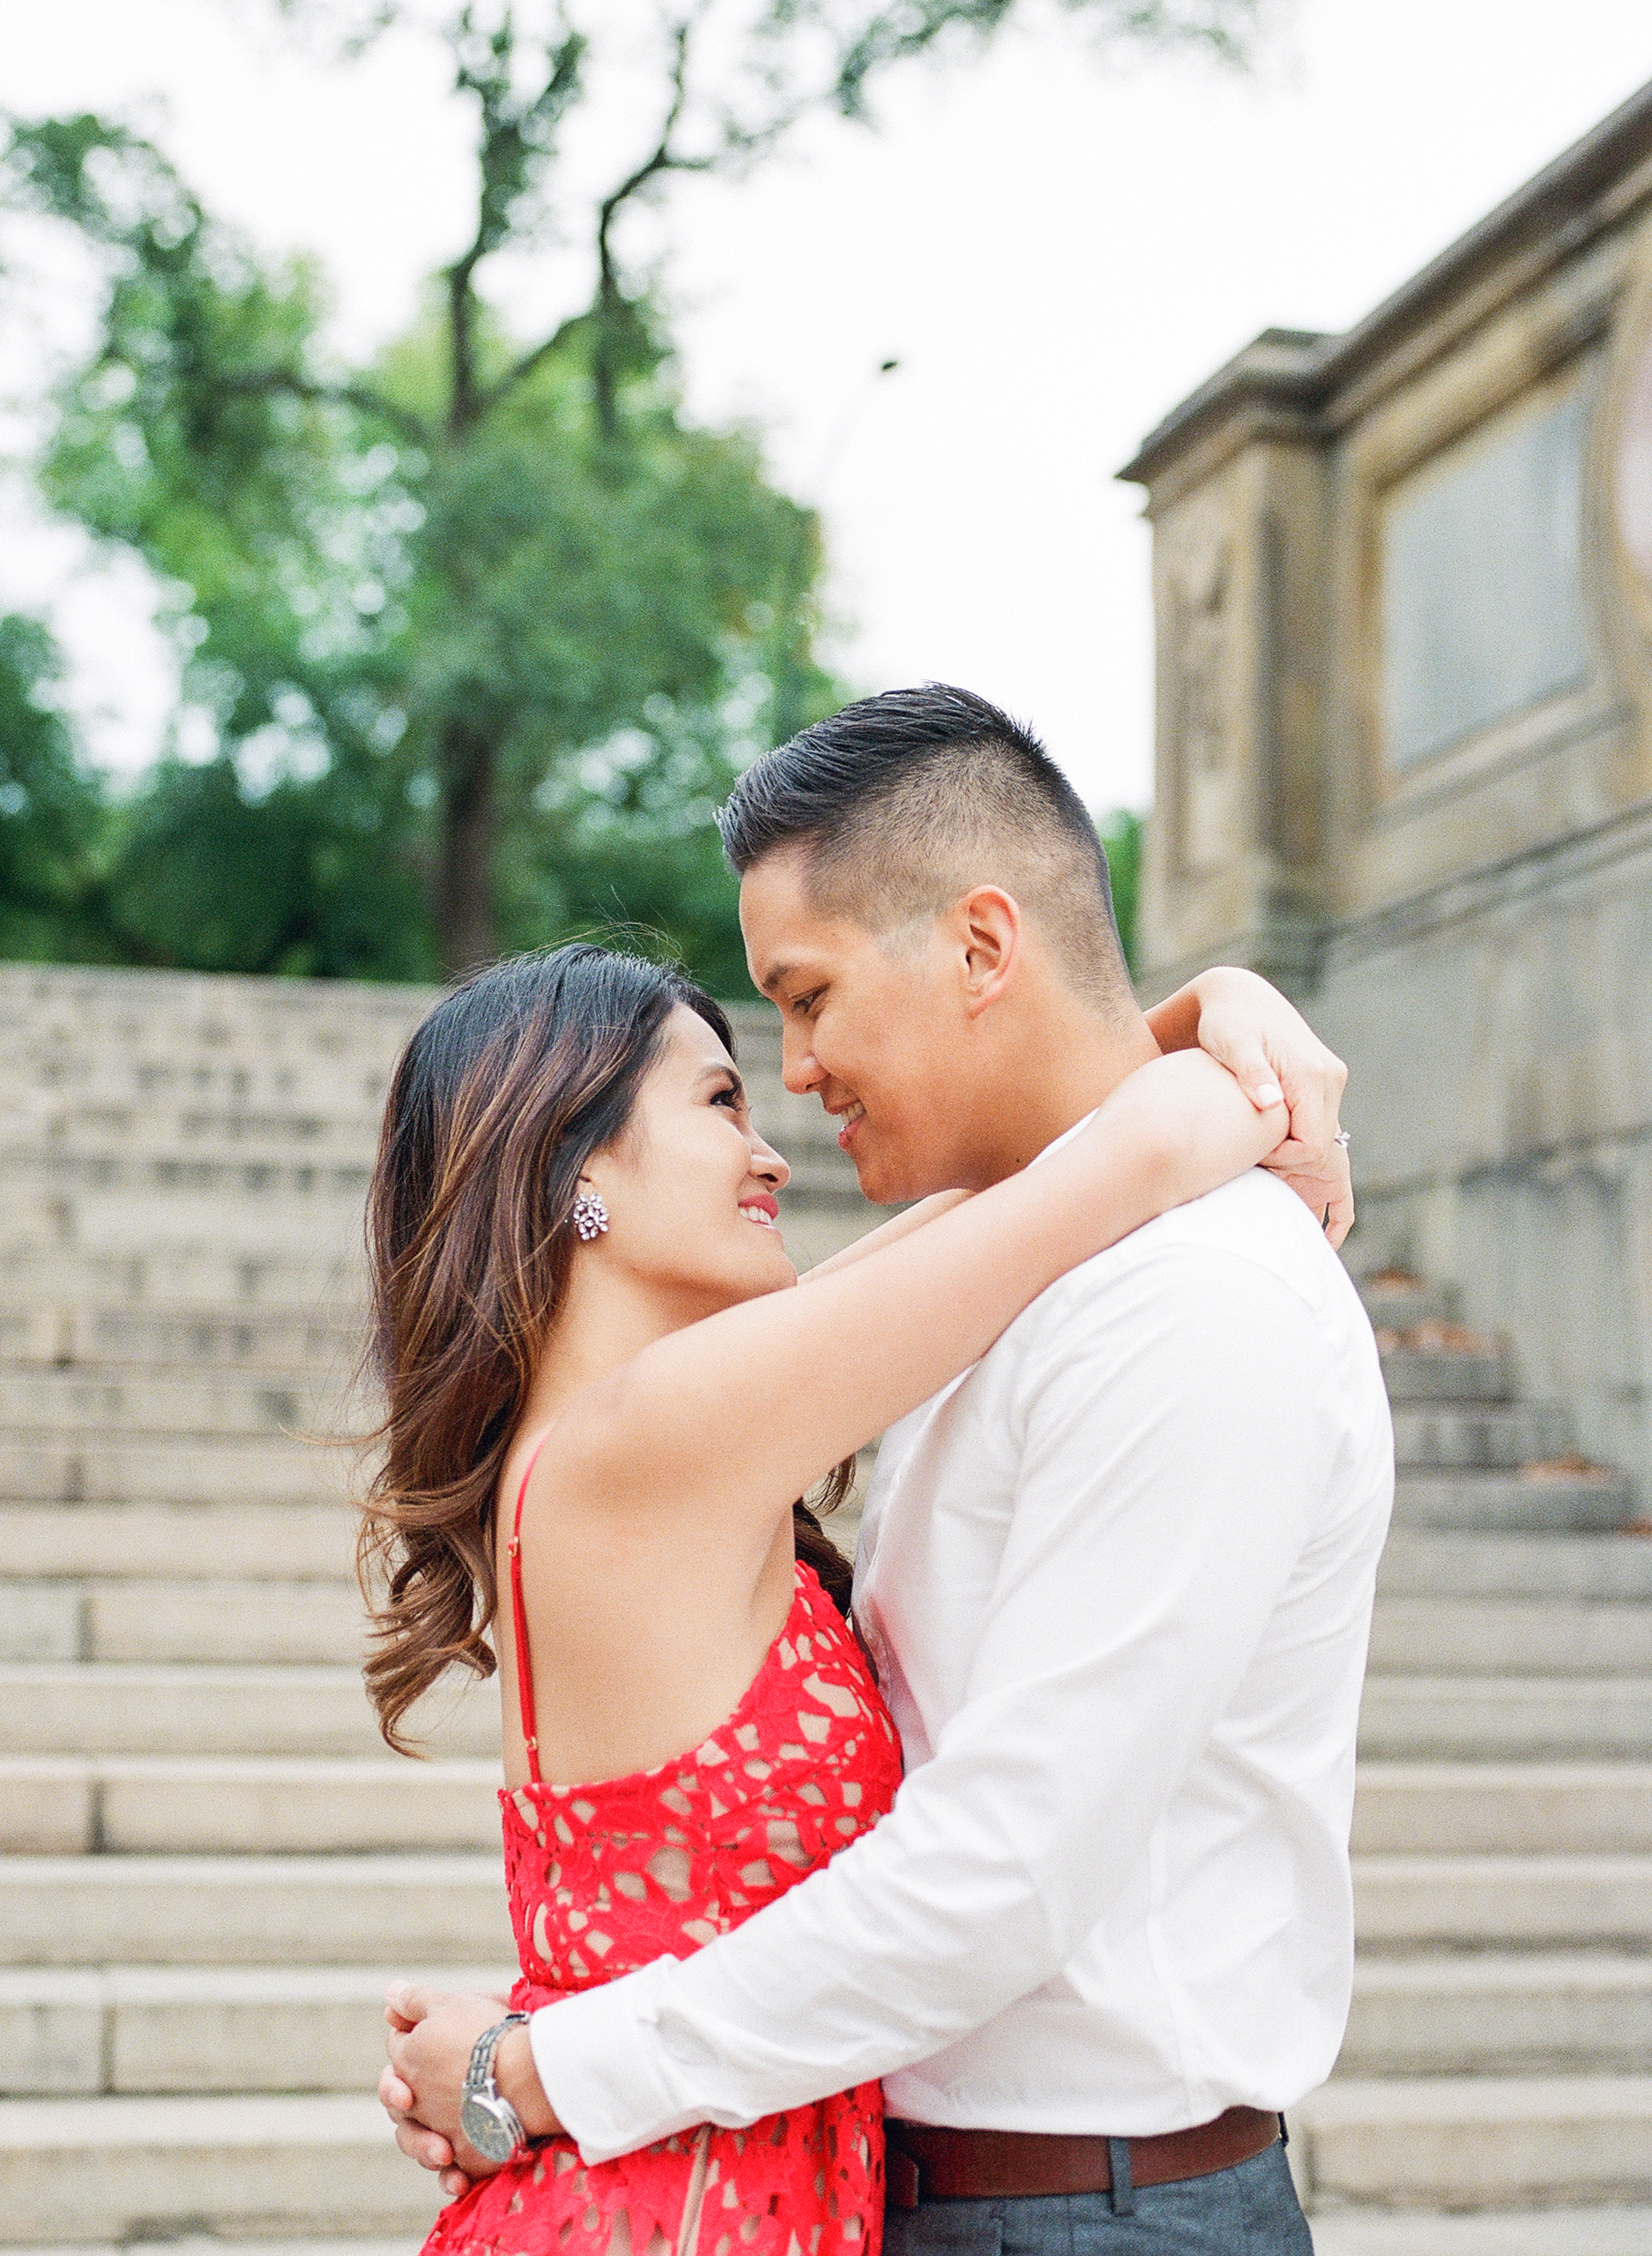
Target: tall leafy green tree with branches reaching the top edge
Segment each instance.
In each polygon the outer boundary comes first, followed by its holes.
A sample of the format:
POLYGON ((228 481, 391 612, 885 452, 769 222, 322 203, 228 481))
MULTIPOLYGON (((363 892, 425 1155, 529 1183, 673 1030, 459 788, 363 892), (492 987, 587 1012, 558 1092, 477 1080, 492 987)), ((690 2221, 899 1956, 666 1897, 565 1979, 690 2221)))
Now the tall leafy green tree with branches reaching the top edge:
MULTIPOLYGON (((1237 52, 1255 0, 1066 7, 1107 34, 1237 52)), ((347 43, 401 20, 376 0, 286 14, 347 43)), ((566 133, 636 25, 613 0, 588 23, 550 0, 532 29, 527 14, 469 0, 435 34, 476 115, 476 223, 428 318, 374 368, 329 359, 313 268, 259 264, 124 126, 20 124, 7 156, 14 203, 68 221, 108 273, 47 492, 176 591, 187 690, 230 763, 196 783, 169 767, 146 835, 176 841, 185 808, 237 835, 284 823, 295 873, 320 866, 316 837, 329 866, 340 835, 372 839, 385 898, 428 875, 446 972, 534 923, 532 882, 606 898, 638 855, 656 880, 660 855, 687 857, 676 896, 708 909, 710 830, 701 817, 687 844, 672 790, 687 778, 699 805, 705 763, 732 774, 739 744, 834 695, 814 659, 814 519, 748 438, 685 424, 660 309, 622 259, 627 214, 674 176, 755 165, 811 111, 865 115, 883 70, 989 38, 1014 0, 683 0, 658 36, 656 129, 584 208, 566 133), (532 343, 507 336, 485 268, 581 210, 588 302, 532 343), (275 787, 248 792, 250 772, 275 787)), ((266 950, 291 932, 295 961, 361 963, 349 918, 300 911, 293 882, 266 950)), ((146 932, 165 923, 153 882, 122 898, 146 932)))

